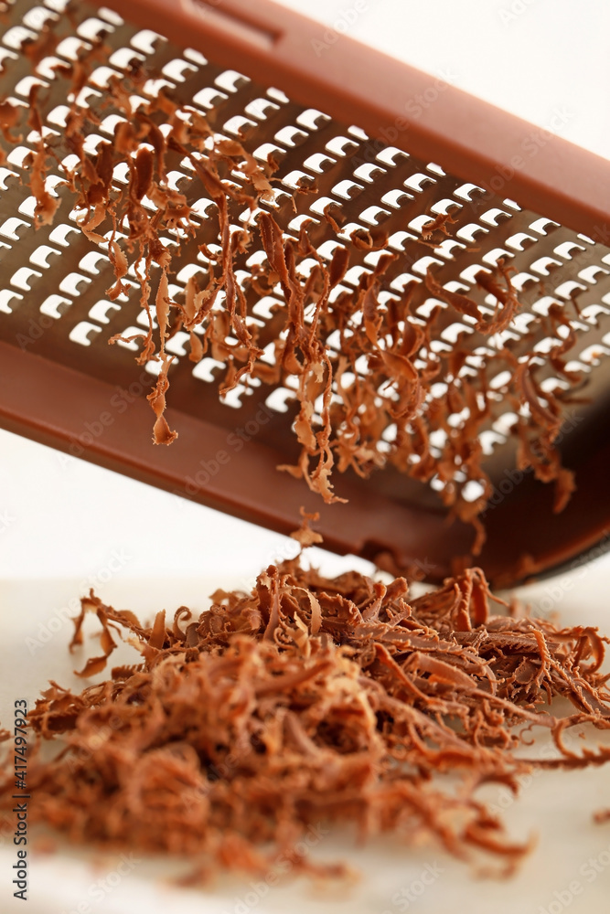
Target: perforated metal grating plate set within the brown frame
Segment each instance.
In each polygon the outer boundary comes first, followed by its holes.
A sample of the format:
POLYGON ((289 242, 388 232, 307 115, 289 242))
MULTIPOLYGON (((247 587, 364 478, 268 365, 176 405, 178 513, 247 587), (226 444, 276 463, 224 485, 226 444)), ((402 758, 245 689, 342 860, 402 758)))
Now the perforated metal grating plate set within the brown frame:
MULTIPOLYGON (((24 135, 0 168, 0 337, 6 342, 125 386, 143 370, 134 364, 137 343, 107 345, 113 335, 142 334, 147 326, 134 262, 125 281, 131 292, 111 301, 106 293, 114 282, 108 246, 98 246, 80 232, 76 223, 85 214, 73 209, 74 197, 63 184, 61 164, 70 167, 77 157, 63 130, 71 79, 57 65, 73 63, 98 48, 96 67, 79 97, 91 112, 89 153, 95 154, 112 137, 117 118, 123 118, 123 112, 113 106, 108 80, 115 76, 128 83, 134 68, 144 68, 148 80, 138 88, 142 101, 154 100, 163 87, 179 105, 205 114, 216 133, 238 139, 258 161, 264 163, 273 156, 278 164, 273 173, 274 199, 261 207, 273 213, 285 238, 298 239, 308 220, 309 239, 326 263, 337 245, 348 248, 349 269, 330 295, 326 321, 326 345, 336 370, 341 335, 362 333, 363 292, 371 287, 384 256, 384 251, 374 249, 388 239, 387 251, 398 256, 377 286, 377 314, 384 330, 380 346, 390 352, 397 338, 425 330, 430 342, 412 353, 412 364, 433 381, 418 409, 417 428, 412 417, 401 421, 392 415, 397 395, 382 372, 375 378, 379 385, 374 401, 357 418, 362 451, 369 455, 363 457, 361 469, 368 471, 388 460, 430 486, 405 480, 397 496, 431 506, 438 504, 433 490, 444 491, 447 503, 460 498, 464 505, 479 498, 481 486, 477 488, 476 478, 469 478, 455 437, 471 418, 466 388, 476 392, 479 409, 484 403, 490 408, 477 434, 492 484, 514 462, 511 427, 521 423, 536 431, 530 409, 519 404, 516 365, 527 362, 535 371, 543 407, 544 393, 558 396, 573 417, 591 410, 586 400, 599 404, 604 399, 606 373, 600 369, 610 353, 610 251, 603 244, 519 208, 501 191, 494 195, 465 184, 447 174, 444 163, 418 162, 398 148, 371 141, 358 127, 332 121, 323 112, 304 110, 281 90, 255 85, 196 51, 180 51, 152 31, 123 23, 110 10, 102 8, 92 15, 91 8, 80 3, 47 0, 32 5, 17 0, 5 18, 0 94, 27 106, 32 86, 39 85, 37 102, 45 135, 52 137, 58 159, 48 171, 46 185, 59 200, 53 225, 35 228, 36 199, 28 187, 27 164, 39 137, 35 132, 24 135), (27 48, 45 28, 59 38, 59 44, 55 46, 54 40, 52 54, 43 54, 33 66, 27 48), (431 220, 445 214, 452 221, 427 235, 431 220), (491 320, 498 312, 498 300, 475 277, 486 271, 506 290, 496 269, 500 258, 512 268, 511 283, 520 303, 519 314, 501 333, 477 331, 474 318, 459 314, 442 296, 431 294, 425 282, 430 271, 444 290, 471 297, 491 320), (341 326, 333 316, 333 305, 346 300, 349 317, 341 326), (561 309, 560 319, 557 309, 561 309), (568 337, 572 345, 562 353, 568 337), (463 350, 466 355, 456 359, 463 350), (573 395, 578 402, 571 402, 573 395), (434 461, 443 460, 444 479, 423 468, 428 447, 434 461)), ((163 114, 157 112, 155 122, 168 129, 163 114)), ((10 148, 7 143, 5 148, 10 148)), ((215 204, 182 156, 168 152, 166 165, 168 186, 187 198, 190 224, 196 229, 174 228, 163 239, 176 251, 170 296, 184 303, 188 280, 203 287, 214 269, 201 245, 212 253, 219 250, 218 219, 215 204)), ((126 167, 115 168, 114 185, 124 186, 127 176, 126 167)), ((224 177, 238 186, 241 182, 235 171, 224 177)), ((144 205, 151 212, 155 209, 150 201, 144 200, 144 205)), ((262 438, 284 452, 287 461, 294 461, 298 447, 289 426, 297 412, 298 381, 275 365, 274 343, 284 326, 284 296, 279 283, 262 295, 252 282, 252 271, 256 277, 268 267, 256 228, 258 215, 230 202, 232 227, 246 226, 251 232, 248 248, 236 255, 234 268, 247 303, 247 324, 265 351, 263 367, 219 399, 226 366, 210 355, 194 365, 188 358, 189 334, 178 330, 166 344, 167 352, 175 356, 168 396, 181 410, 228 430, 254 420, 264 402, 274 418, 262 430, 262 438), (265 371, 265 364, 270 370, 265 371), (281 377, 266 383, 276 371, 281 377)), ((120 228, 126 236, 128 228, 120 228)), ((96 231, 110 238, 112 227, 102 224, 96 231)), ((306 257, 297 264, 304 284, 314 266, 315 260, 306 257)), ((220 292, 210 320, 221 319, 223 311, 220 292)), ((311 321, 313 311, 312 304, 305 320, 311 321)), ((230 335, 225 344, 226 356, 239 349, 238 340, 230 335)), ((155 360, 144 367, 151 385, 158 369, 155 360)), ((373 375, 376 370, 372 369, 373 375)), ((335 385, 334 399, 343 405, 337 413, 339 421, 345 420, 350 385, 358 382, 359 375, 371 375, 367 356, 348 366, 342 387, 335 385)), ((180 442, 173 446, 179 447, 180 442)), ((390 479, 395 485, 395 475, 390 479)), ((378 484, 382 489, 384 484, 378 484)))

